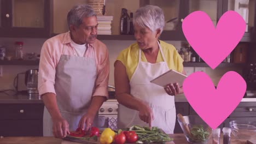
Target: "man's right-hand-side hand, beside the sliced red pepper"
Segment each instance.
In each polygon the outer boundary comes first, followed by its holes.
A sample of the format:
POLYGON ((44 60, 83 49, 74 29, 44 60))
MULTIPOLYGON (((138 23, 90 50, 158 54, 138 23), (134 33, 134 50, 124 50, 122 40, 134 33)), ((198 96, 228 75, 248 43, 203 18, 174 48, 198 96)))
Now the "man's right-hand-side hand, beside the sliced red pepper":
POLYGON ((88 131, 91 128, 91 124, 94 122, 95 115, 92 113, 86 113, 79 121, 78 128, 88 131), (85 129, 84 129, 85 127, 85 129))

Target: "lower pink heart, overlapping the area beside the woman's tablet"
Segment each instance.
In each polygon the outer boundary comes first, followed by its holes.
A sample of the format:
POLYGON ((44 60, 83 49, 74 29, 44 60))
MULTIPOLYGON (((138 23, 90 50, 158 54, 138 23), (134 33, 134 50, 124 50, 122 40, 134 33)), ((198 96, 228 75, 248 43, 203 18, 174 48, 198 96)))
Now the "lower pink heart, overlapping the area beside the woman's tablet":
POLYGON ((210 77, 198 71, 185 79, 183 91, 196 113, 212 129, 216 129, 242 100, 246 82, 235 71, 228 71, 216 89, 210 77))

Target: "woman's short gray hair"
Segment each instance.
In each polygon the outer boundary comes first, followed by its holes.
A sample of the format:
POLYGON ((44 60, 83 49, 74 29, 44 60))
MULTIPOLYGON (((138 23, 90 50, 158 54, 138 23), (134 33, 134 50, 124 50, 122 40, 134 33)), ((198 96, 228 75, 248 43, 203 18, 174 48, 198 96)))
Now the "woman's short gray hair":
POLYGON ((141 7, 135 12, 133 25, 149 28, 152 32, 155 32, 156 29, 160 29, 160 33, 162 33, 162 29, 165 26, 164 12, 161 8, 155 5, 141 7))

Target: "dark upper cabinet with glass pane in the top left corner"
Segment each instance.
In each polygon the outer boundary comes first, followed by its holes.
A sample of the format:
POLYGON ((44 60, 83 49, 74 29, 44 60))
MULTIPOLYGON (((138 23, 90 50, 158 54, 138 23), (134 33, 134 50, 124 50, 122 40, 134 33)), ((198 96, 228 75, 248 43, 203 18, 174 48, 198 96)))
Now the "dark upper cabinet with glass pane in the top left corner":
POLYGON ((49 38, 50 0, 1 0, 0 37, 49 38))

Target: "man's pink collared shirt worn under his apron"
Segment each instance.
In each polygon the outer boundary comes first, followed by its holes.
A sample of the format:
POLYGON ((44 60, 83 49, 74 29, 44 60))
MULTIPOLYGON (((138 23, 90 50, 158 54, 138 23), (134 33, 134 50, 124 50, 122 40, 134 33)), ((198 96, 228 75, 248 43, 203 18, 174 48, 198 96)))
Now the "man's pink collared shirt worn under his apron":
MULTIPOLYGON (((108 78, 109 78, 109 57, 108 49, 100 40, 94 44, 89 44, 85 57, 94 53, 97 67, 97 77, 92 96, 103 96, 108 98, 108 78)), ((38 91, 39 95, 44 93, 55 93, 54 83, 56 67, 62 55, 77 56, 74 47, 71 46, 71 37, 69 32, 56 35, 45 41, 40 53, 38 91), (63 51, 65 46, 65 51, 63 51)), ((93 83, 92 83, 93 85, 93 83)))

